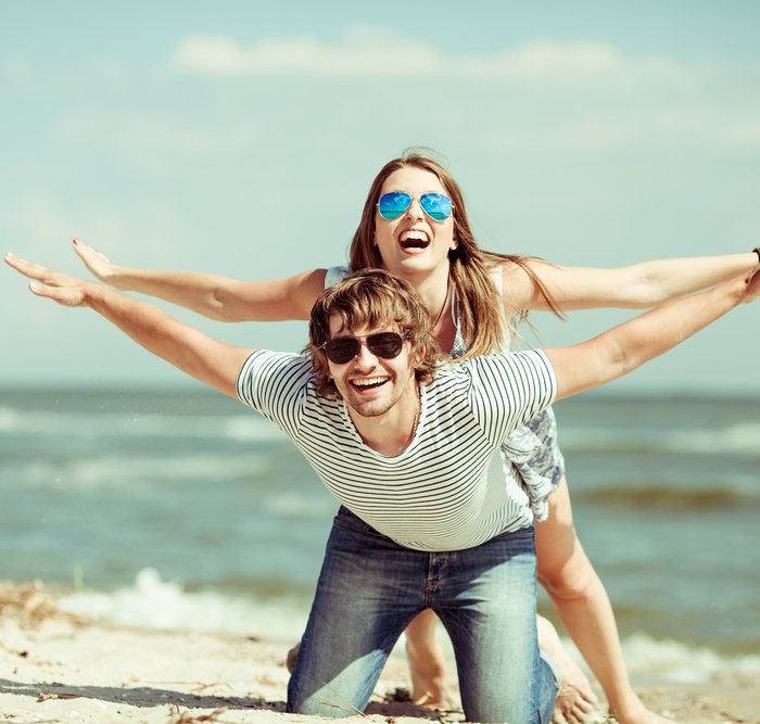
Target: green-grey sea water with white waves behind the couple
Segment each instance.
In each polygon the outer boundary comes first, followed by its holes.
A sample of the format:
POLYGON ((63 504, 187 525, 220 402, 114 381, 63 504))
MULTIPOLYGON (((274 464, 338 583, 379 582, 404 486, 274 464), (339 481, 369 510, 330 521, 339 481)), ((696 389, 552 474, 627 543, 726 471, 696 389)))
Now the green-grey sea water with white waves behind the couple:
MULTIPOLYGON (((634 679, 760 674, 760 398, 555 409, 634 679)), ((335 510, 288 439, 221 395, 0 392, 0 580, 69 610, 292 643, 335 510)))

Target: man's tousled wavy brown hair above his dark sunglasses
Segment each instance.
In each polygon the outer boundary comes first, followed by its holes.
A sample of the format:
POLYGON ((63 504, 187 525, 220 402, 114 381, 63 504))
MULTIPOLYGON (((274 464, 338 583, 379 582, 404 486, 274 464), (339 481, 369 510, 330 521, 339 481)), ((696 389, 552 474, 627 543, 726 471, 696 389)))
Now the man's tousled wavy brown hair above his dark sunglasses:
POLYGON ((417 381, 433 379, 441 358, 430 314, 417 291, 384 269, 364 269, 326 289, 312 307, 308 347, 317 393, 340 397, 330 377, 322 345, 330 340, 330 318, 338 315, 344 330, 396 327, 411 345, 417 381))

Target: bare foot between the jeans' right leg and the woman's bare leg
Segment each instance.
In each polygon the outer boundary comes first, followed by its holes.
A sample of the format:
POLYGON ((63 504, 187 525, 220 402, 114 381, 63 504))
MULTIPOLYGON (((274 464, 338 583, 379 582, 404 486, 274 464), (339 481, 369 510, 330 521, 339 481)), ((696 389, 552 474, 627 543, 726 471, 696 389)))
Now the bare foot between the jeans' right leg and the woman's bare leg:
POLYGON ((592 721, 596 696, 581 668, 570 658, 557 631, 543 617, 536 618, 539 646, 552 657, 559 669, 559 693, 554 708, 553 724, 583 724, 592 721))

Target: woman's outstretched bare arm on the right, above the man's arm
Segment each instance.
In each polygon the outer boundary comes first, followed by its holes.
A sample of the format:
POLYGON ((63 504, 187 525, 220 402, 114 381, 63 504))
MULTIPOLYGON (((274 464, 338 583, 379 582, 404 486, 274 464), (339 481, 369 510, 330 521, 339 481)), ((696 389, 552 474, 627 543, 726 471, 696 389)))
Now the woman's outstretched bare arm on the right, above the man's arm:
MULTIPOLYGON (((643 309, 709 289, 743 274, 760 261, 757 252, 656 259, 612 269, 556 266, 527 259, 560 309, 619 307, 643 309)), ((505 303, 515 309, 549 309, 523 269, 504 266, 505 303)))

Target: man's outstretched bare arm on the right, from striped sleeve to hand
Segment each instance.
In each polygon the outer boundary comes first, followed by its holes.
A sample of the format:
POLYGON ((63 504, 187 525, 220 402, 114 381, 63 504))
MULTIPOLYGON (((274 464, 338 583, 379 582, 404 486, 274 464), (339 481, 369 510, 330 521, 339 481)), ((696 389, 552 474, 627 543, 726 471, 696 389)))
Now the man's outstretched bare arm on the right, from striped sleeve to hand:
POLYGON ((758 295, 760 266, 746 278, 662 304, 587 342, 545 350, 557 376, 557 398, 628 374, 758 295))

